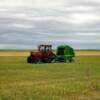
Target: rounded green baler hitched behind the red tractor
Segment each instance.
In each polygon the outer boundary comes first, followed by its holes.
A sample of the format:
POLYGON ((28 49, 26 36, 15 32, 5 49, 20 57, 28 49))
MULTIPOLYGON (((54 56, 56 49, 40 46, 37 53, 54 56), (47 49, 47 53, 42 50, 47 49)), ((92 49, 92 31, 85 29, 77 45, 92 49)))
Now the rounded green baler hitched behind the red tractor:
POLYGON ((60 45, 57 47, 56 60, 60 62, 72 62, 75 57, 74 49, 68 45, 60 45))

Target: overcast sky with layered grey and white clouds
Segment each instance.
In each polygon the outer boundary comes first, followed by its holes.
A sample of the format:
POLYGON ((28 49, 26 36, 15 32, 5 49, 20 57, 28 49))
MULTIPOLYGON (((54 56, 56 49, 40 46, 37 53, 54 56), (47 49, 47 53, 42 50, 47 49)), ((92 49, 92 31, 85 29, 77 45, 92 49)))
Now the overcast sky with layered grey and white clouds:
POLYGON ((0 0, 0 48, 39 44, 100 48, 100 0, 0 0))

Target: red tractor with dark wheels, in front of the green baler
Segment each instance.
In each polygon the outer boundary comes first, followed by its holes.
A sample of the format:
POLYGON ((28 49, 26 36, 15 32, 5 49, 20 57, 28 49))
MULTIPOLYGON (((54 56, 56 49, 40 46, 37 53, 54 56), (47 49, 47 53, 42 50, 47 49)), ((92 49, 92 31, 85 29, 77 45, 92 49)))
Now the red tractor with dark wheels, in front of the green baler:
POLYGON ((56 55, 52 52, 52 45, 39 45, 38 51, 31 51, 27 58, 28 63, 50 63, 55 61, 56 55))

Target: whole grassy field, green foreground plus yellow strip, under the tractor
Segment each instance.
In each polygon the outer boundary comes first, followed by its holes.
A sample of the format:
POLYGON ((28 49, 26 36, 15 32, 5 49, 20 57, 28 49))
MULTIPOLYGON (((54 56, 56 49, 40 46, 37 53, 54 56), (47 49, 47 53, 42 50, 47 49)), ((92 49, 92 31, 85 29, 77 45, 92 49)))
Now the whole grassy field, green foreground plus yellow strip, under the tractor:
POLYGON ((28 54, 0 51, 0 100, 100 100, 100 51, 50 64, 27 64, 28 54))

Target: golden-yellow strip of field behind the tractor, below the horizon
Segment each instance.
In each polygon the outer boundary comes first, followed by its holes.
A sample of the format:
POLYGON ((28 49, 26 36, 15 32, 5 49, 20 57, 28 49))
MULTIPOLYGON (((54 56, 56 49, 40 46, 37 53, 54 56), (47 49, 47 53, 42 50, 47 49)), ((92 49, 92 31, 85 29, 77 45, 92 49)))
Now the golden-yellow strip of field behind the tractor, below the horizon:
MULTIPOLYGON (((32 50, 0 50, 0 56, 28 56, 32 50)), ((34 50, 36 51, 36 50, 34 50)), ((56 53, 56 50, 53 50, 56 53)), ((75 50, 76 56, 100 56, 100 50, 75 50)))

